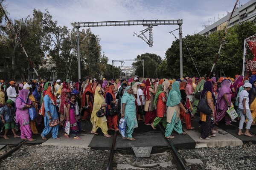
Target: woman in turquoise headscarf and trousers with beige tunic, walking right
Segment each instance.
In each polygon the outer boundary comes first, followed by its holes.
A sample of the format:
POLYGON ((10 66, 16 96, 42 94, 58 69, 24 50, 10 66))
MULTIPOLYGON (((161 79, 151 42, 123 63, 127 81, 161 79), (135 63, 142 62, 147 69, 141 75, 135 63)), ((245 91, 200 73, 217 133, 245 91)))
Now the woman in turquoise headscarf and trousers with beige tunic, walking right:
POLYGON ((179 135, 186 134, 182 131, 181 121, 180 121, 180 108, 187 113, 188 111, 180 102, 180 84, 179 82, 174 82, 172 84, 172 90, 169 92, 168 99, 166 102, 167 108, 167 117, 166 117, 166 139, 172 139, 174 136, 171 136, 172 130, 174 129, 179 135))

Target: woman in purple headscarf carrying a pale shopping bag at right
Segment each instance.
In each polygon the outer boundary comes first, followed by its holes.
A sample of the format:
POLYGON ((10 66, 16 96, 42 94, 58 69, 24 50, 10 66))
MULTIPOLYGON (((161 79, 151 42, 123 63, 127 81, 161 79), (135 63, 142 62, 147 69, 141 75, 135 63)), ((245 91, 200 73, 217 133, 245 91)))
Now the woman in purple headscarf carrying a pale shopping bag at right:
POLYGON ((215 124, 218 123, 225 117, 226 125, 230 125, 230 116, 226 113, 228 107, 231 107, 231 82, 229 80, 224 80, 221 83, 221 88, 219 88, 218 99, 217 99, 217 116, 215 119, 215 124))

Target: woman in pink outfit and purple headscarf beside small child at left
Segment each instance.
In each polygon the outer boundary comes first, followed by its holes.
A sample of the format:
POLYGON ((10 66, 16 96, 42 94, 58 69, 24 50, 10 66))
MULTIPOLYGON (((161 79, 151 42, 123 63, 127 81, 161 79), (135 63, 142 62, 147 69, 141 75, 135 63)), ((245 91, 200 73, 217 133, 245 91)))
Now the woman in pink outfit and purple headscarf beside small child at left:
POLYGON ((29 90, 22 89, 15 101, 16 124, 20 124, 20 138, 23 140, 35 141, 32 139, 32 130, 29 125, 29 108, 32 106, 32 101, 29 99, 29 90))

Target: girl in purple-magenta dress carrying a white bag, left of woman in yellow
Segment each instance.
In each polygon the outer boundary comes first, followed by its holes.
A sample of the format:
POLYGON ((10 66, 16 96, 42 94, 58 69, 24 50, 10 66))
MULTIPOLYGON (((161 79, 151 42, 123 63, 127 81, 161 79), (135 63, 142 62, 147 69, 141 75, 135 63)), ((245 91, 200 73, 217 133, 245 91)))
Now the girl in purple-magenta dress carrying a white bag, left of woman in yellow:
MULTIPOLYGON (((79 113, 78 113, 79 115, 79 113)), ((81 139, 76 134, 79 133, 79 127, 76 120, 76 117, 78 116, 76 113, 76 94, 71 94, 70 102, 67 105, 67 119, 66 122, 70 122, 70 133, 74 135, 74 139, 81 139)), ((66 122, 63 126, 63 130, 65 130, 66 122)), ((64 136, 66 138, 70 138, 70 136, 67 133, 64 133, 64 136)))

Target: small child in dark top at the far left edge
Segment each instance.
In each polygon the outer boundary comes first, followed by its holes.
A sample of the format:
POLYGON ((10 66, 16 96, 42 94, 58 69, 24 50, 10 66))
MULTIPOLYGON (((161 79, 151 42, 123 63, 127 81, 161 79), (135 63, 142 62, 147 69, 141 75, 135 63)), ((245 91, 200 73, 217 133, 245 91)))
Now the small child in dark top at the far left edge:
POLYGON ((15 138, 19 138, 20 136, 17 136, 17 134, 15 133, 14 127, 15 127, 15 122, 13 121, 13 115, 15 115, 15 110, 12 107, 12 105, 14 104, 14 102, 11 99, 8 99, 6 101, 6 105, 3 106, 0 110, 0 115, 1 115, 1 119, 3 124, 5 124, 5 132, 4 132, 4 139, 9 139, 7 137, 7 132, 9 129, 12 128, 12 133, 14 134, 15 138))

